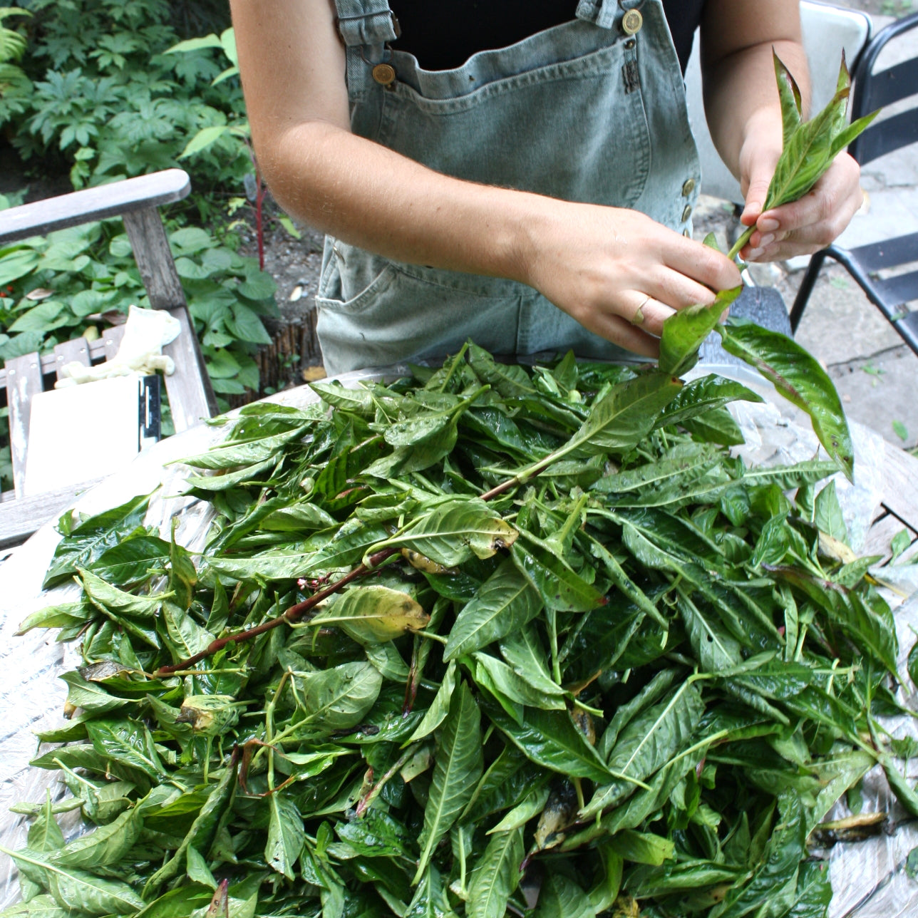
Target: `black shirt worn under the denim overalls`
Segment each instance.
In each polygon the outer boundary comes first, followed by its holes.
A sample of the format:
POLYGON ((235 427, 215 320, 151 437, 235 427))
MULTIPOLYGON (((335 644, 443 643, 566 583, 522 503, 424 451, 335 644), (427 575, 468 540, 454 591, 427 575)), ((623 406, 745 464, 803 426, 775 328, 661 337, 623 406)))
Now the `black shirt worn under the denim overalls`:
MULTIPOLYGON (((573 19, 577 0, 390 0, 401 26, 397 50, 427 70, 460 67, 476 51, 506 48, 573 19)), ((704 0, 663 0, 685 73, 704 0)))

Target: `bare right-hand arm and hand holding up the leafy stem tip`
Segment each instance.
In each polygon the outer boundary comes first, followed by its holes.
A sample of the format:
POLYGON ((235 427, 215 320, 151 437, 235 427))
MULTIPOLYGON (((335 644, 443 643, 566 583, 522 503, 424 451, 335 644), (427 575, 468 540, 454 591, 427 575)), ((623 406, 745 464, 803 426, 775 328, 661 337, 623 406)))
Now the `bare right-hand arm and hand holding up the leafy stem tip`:
POLYGON ((708 0, 701 24, 705 109, 711 137, 739 177, 743 222, 757 232, 744 257, 777 261, 832 242, 860 207, 860 170, 842 154, 796 204, 762 213, 781 153, 781 110, 772 50, 794 74, 808 105, 809 71, 800 37, 798 0, 768 3, 708 0))

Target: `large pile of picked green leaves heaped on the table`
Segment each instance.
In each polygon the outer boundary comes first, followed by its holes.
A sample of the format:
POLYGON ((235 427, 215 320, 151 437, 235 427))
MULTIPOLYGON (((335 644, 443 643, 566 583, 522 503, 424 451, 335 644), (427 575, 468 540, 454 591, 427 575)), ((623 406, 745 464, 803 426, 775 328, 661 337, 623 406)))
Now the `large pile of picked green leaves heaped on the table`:
POLYGON ((727 298, 667 322, 659 368, 470 344, 248 406, 186 460, 201 554, 143 497, 62 520, 47 584, 82 599, 22 630, 81 641, 33 762, 72 797, 18 808, 4 918, 824 915, 834 802, 879 763, 918 815, 878 722, 896 633, 816 487, 850 443, 812 357, 724 330, 835 462, 745 467, 724 406, 759 397, 673 375, 727 298), (74 808, 96 827, 64 844, 74 808))

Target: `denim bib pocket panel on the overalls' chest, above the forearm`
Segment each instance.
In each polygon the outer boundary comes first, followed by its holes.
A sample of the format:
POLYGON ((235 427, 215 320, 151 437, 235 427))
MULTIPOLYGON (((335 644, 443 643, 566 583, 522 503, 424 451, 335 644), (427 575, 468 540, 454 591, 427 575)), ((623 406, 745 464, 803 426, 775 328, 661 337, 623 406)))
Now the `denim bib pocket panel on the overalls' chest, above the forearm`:
MULTIPOLYGON (((501 53, 512 58, 529 40, 501 53)), ((394 84, 382 94, 377 140, 466 181, 633 207, 652 165, 644 94, 625 78, 634 60, 635 50, 617 41, 453 97, 440 90, 452 87, 457 74, 472 84, 476 58, 456 71, 419 72, 419 85, 433 95, 394 84)), ((512 70, 512 60, 507 66, 512 70)))

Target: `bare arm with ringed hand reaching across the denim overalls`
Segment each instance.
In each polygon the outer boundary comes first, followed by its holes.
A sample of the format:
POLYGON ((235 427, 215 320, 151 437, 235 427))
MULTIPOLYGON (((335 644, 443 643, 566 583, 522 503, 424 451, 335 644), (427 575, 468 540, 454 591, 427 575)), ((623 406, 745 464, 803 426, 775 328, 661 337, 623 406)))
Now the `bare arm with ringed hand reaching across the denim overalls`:
POLYGON ((641 214, 461 181, 353 135, 331 0, 230 6, 263 174, 318 229, 397 261, 521 281, 651 355, 673 309, 739 282, 722 256, 641 214))

